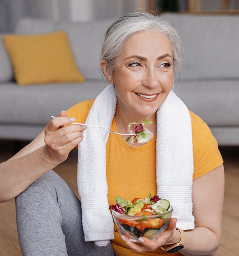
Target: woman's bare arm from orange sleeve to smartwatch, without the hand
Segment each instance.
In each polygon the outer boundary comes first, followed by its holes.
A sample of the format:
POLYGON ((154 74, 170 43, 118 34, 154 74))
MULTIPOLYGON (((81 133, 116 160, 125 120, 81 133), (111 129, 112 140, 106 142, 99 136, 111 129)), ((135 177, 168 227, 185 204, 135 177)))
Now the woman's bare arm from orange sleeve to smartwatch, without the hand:
POLYGON ((214 255, 220 245, 224 198, 224 168, 195 179, 192 184, 195 229, 185 232, 184 255, 214 255))

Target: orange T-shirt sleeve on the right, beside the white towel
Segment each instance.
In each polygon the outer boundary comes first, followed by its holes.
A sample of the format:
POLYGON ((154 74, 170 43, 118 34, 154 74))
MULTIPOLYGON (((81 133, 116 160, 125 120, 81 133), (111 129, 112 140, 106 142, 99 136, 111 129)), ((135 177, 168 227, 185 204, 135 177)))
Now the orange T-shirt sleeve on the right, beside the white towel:
POLYGON ((193 179, 214 170, 223 163, 218 144, 208 125, 190 111, 194 157, 193 179))

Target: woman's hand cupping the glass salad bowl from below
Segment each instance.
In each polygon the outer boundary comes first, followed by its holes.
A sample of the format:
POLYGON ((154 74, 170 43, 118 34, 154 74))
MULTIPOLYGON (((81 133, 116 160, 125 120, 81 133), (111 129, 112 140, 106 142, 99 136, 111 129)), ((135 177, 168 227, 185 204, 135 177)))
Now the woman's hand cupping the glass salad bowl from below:
POLYGON ((127 246, 131 250, 135 250, 136 252, 146 252, 149 250, 156 250, 162 245, 172 245, 180 241, 181 234, 180 232, 177 232, 176 229, 176 218, 171 218, 170 223, 168 224, 168 227, 165 229, 165 231, 155 240, 152 241, 146 237, 140 237, 138 241, 140 243, 131 242, 128 237, 122 235, 122 233, 119 231, 119 234, 121 235, 121 238, 125 242, 127 246))

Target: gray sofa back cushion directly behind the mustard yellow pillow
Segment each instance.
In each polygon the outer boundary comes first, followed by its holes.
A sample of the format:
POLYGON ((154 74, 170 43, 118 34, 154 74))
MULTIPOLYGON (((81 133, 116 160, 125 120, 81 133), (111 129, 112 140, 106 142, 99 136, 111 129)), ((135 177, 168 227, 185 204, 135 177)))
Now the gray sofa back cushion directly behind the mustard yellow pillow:
POLYGON ((68 32, 71 47, 77 65, 86 79, 99 78, 99 59, 104 32, 110 20, 70 23, 41 20, 21 19, 16 27, 16 33, 47 33, 64 29, 68 32))

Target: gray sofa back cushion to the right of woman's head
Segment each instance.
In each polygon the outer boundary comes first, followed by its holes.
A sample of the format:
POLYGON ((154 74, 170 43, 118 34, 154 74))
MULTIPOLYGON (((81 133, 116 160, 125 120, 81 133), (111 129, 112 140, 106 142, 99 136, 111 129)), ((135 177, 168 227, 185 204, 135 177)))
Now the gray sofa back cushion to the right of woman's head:
POLYGON ((239 78, 239 16, 163 14, 182 37, 185 78, 239 78))

